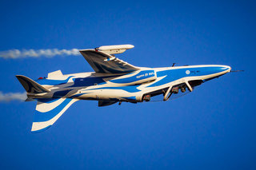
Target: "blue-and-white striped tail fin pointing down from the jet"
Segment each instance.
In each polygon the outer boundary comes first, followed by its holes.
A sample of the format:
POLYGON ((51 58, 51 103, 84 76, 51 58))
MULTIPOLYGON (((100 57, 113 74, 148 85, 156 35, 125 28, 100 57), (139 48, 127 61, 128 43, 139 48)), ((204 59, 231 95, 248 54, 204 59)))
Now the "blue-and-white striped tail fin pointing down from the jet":
POLYGON ((31 132, 42 132, 50 128, 75 101, 78 99, 38 99, 31 132))

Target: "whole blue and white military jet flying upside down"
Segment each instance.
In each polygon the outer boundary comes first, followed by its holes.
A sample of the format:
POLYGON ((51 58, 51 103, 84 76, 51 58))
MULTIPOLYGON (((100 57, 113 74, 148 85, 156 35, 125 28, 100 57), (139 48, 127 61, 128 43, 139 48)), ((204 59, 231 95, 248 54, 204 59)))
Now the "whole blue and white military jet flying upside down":
POLYGON ((17 75, 26 89, 26 101, 37 101, 31 131, 50 128, 75 101, 98 101, 100 107, 117 102, 146 102, 158 95, 168 101, 172 94, 192 92, 195 86, 231 69, 227 65, 138 67, 115 57, 132 48, 134 45, 103 45, 79 50, 94 72, 63 75, 58 70, 35 81, 17 75))

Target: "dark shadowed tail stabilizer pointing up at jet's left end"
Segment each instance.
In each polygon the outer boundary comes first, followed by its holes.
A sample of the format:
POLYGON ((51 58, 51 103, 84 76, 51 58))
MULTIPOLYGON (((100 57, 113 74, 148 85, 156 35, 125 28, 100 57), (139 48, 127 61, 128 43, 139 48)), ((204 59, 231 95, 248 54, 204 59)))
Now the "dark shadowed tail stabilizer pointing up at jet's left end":
POLYGON ((39 85, 37 82, 31 80, 29 77, 17 75, 18 81, 22 84, 27 93, 47 93, 50 90, 39 85))

